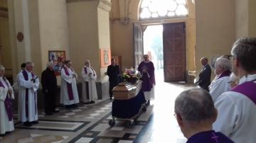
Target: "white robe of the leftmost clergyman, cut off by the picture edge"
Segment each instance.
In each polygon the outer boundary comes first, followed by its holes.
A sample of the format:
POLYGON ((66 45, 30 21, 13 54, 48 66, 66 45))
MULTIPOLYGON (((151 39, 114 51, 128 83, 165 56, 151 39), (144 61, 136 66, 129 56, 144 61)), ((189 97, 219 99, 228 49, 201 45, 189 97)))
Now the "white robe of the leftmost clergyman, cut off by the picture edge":
POLYGON ((14 99, 14 91, 11 88, 11 84, 6 79, 6 82, 2 77, 0 77, 1 83, 4 85, 3 87, 0 87, 0 134, 5 134, 6 132, 11 132, 14 130, 14 119, 9 121, 7 112, 6 112, 6 106, 4 104, 4 101, 6 100, 6 96, 9 96, 9 98, 14 99), (11 90, 11 95, 7 95, 8 90, 11 90))

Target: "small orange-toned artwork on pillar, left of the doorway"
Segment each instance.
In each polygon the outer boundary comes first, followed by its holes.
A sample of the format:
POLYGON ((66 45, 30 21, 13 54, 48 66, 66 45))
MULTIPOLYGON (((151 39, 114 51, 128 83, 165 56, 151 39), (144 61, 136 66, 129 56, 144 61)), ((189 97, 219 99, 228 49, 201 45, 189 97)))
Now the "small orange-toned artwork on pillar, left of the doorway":
POLYGON ((110 49, 100 49, 100 67, 107 67, 111 64, 110 49))

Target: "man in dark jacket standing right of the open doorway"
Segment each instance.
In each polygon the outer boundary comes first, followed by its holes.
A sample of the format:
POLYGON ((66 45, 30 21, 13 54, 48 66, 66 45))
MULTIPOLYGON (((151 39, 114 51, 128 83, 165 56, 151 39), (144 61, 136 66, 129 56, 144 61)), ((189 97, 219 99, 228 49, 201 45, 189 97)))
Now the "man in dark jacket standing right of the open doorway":
POLYGON ((209 91, 208 86, 210 86, 211 69, 210 65, 208 64, 208 59, 206 57, 202 57, 201 64, 203 65, 203 69, 199 74, 199 79, 196 81, 196 84, 198 84, 198 86, 201 88, 206 89, 206 91, 209 91))

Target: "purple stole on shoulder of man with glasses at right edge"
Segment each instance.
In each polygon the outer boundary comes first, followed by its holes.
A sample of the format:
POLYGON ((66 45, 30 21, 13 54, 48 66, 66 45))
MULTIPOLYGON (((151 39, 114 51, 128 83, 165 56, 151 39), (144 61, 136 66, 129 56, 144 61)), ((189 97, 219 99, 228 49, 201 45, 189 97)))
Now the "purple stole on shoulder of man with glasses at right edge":
MULTIPOLYGON (((255 81, 255 80, 253 80, 255 81)), ((238 86, 235 86, 231 91, 242 93, 243 95, 250 98, 256 105, 256 84, 253 81, 246 81, 238 86)))

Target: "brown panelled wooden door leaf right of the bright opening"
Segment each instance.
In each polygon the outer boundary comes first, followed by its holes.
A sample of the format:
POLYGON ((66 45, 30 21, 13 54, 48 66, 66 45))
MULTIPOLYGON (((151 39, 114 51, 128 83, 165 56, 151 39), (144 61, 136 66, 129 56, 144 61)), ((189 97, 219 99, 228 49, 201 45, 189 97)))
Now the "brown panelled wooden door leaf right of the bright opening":
POLYGON ((186 25, 163 25, 164 81, 186 81, 186 25))

